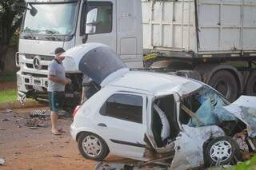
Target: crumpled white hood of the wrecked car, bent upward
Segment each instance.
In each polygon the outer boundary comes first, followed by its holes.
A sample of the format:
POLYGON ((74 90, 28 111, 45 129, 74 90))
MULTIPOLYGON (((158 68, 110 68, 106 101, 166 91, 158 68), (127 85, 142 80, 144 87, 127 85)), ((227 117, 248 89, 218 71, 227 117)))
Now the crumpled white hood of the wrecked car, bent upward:
POLYGON ((249 136, 256 136, 256 97, 241 96, 223 108, 247 125, 249 136))

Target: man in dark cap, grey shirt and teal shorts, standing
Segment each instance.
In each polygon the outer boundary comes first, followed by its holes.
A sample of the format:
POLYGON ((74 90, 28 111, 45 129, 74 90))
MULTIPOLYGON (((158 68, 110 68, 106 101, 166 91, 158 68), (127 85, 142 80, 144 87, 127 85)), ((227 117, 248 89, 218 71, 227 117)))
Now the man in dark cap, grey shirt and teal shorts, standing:
POLYGON ((51 119, 51 132, 54 135, 60 134, 60 129, 58 129, 58 111, 62 109, 65 98, 65 85, 71 83, 69 78, 65 76, 65 69, 62 65, 64 57, 62 53, 65 50, 62 48, 55 49, 55 58, 50 62, 48 67, 48 97, 50 105, 50 119, 51 119))

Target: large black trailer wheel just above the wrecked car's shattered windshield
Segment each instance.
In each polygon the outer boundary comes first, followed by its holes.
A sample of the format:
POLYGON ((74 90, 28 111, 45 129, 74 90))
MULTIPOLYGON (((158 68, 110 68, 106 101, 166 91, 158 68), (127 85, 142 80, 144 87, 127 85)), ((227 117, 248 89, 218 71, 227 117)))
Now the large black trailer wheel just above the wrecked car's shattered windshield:
POLYGON ((222 93, 229 101, 235 101, 238 97, 238 82, 232 73, 220 70, 210 78, 209 85, 222 93))

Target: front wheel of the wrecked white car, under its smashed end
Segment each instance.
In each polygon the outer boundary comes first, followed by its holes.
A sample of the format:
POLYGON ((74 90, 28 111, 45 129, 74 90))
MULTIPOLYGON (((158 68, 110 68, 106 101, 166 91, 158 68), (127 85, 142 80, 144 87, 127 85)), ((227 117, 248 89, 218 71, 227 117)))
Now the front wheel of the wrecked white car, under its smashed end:
POLYGON ((217 137, 206 146, 206 167, 236 164, 238 160, 241 160, 241 152, 238 144, 230 136, 217 137))

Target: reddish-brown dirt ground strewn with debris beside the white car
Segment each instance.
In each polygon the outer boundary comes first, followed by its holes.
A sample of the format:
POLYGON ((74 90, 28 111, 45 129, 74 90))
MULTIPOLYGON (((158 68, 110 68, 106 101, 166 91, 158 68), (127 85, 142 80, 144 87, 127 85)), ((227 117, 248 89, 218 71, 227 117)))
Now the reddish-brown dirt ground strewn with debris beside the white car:
MULTIPOLYGON (((6 160, 0 166, 2 170, 94 169, 97 162, 83 158, 78 152, 77 143, 70 136, 72 118, 60 119, 59 125, 66 132, 62 136, 54 136, 50 126, 30 129, 24 125, 32 110, 0 112, 0 157, 6 160)), ((108 156, 106 160, 112 162, 122 158, 108 156)))

